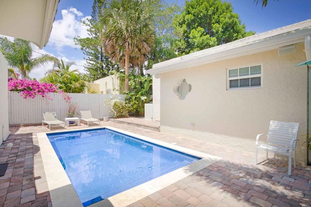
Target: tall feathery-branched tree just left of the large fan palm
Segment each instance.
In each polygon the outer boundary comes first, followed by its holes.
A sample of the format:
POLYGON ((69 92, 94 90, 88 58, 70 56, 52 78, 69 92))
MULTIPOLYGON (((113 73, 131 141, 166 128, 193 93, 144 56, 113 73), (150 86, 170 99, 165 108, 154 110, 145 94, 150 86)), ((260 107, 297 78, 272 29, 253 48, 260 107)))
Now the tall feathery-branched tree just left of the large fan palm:
POLYGON ((82 21, 82 24, 88 27, 87 32, 89 37, 74 38, 76 45, 79 45, 86 58, 86 73, 90 80, 98 80, 107 76, 111 70, 119 69, 110 61, 109 57, 104 54, 104 48, 101 44, 101 34, 103 25, 99 23, 99 15, 106 8, 107 0, 94 0, 92 6, 92 14, 90 19, 82 21))

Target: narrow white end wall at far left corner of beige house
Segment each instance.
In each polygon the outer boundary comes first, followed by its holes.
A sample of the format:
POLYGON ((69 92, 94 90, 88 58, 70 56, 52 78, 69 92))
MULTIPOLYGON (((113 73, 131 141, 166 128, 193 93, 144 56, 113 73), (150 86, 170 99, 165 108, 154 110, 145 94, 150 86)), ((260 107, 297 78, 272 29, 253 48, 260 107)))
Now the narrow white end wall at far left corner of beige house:
POLYGON ((152 120, 160 121, 160 77, 161 75, 154 75, 152 77, 152 120))

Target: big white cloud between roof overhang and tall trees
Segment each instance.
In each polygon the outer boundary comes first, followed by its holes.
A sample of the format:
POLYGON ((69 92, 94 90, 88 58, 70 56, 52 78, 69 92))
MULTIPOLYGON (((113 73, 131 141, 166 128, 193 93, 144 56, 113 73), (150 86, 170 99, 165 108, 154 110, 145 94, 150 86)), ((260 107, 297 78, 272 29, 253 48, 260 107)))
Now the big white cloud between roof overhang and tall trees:
POLYGON ((62 10, 62 19, 55 20, 50 35, 49 44, 61 51, 64 46, 76 48, 73 38, 80 36, 85 38, 88 36, 87 27, 81 23, 81 20, 91 18, 90 16, 83 17, 83 13, 77 11, 76 8, 62 10))

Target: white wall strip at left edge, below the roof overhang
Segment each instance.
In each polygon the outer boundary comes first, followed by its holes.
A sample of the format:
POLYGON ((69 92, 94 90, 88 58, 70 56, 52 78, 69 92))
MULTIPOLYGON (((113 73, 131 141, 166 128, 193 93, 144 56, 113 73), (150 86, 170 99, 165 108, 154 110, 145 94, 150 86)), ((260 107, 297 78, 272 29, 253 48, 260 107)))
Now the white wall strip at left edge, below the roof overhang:
POLYGON ((9 135, 8 62, 0 52, 0 144, 9 135))

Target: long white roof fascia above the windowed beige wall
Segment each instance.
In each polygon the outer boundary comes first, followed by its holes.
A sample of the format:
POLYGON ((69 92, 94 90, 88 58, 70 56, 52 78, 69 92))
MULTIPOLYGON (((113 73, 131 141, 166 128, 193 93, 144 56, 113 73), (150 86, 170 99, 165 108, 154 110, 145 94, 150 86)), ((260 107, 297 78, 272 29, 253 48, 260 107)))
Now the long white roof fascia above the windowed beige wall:
POLYGON ((301 43, 307 34, 311 34, 311 19, 154 64, 146 72, 156 75, 301 43))

